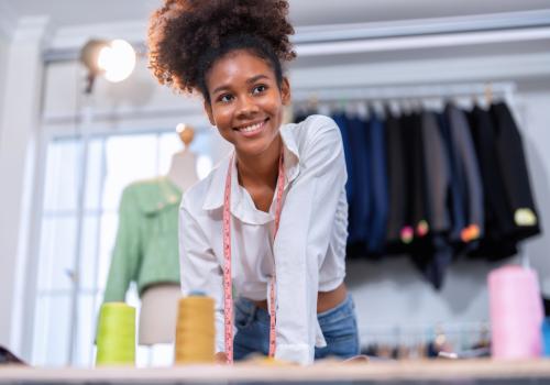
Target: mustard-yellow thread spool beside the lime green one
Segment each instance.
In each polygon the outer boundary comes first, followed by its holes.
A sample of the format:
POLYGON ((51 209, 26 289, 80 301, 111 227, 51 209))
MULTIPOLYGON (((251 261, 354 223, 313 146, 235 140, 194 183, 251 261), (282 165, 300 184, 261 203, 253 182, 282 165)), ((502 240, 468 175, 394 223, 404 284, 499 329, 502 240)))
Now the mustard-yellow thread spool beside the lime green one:
POLYGON ((204 295, 179 299, 175 363, 212 363, 215 334, 215 300, 204 295))

